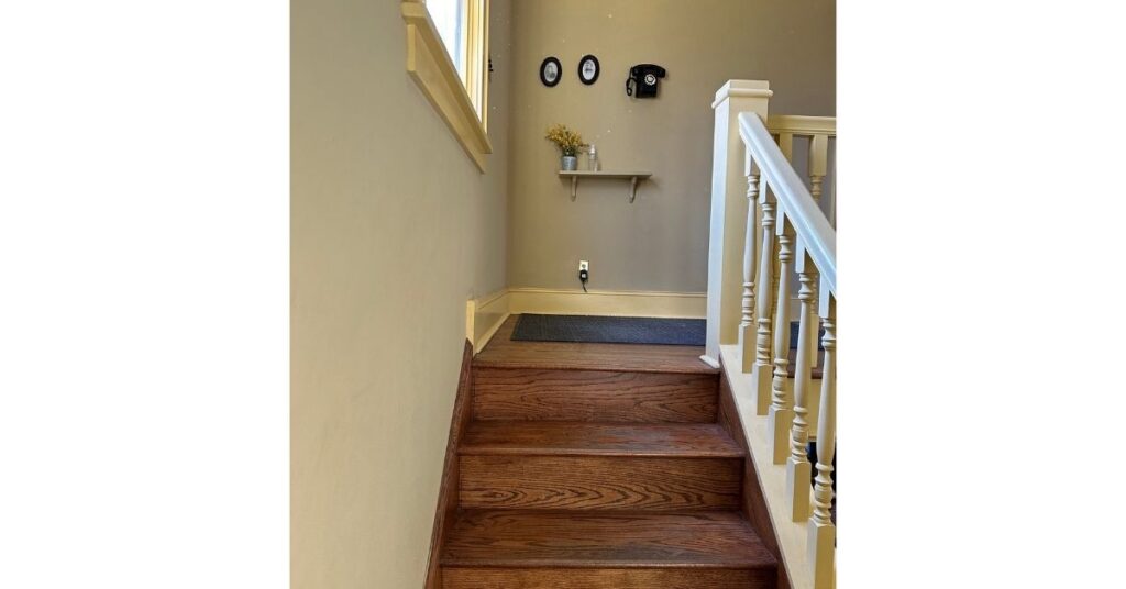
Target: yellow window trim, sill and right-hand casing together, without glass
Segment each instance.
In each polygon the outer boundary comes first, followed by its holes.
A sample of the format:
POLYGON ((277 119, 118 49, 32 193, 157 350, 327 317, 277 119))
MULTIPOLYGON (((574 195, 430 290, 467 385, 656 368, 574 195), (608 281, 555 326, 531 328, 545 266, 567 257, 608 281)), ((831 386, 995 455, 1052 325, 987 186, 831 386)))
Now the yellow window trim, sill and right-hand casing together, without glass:
MULTIPOLYGON (((475 3, 475 2, 474 2, 475 3)), ((475 55, 488 55, 488 2, 481 11, 471 9, 471 25, 474 18, 483 19, 483 26, 470 26, 466 34, 475 37, 483 32, 484 38, 470 38, 470 51, 466 59, 470 60, 466 68, 466 81, 463 83, 457 68, 449 59, 449 53, 438 36, 438 29, 430 18, 426 6, 417 1, 404 1, 402 3, 403 20, 406 23, 406 72, 419 86, 422 93, 438 111, 441 119, 457 137, 462 149, 473 160, 482 173, 485 171, 485 155, 492 153, 492 144, 489 143, 489 135, 485 134, 483 119, 485 99, 488 97, 488 57, 475 59, 475 55), (474 45, 476 44, 476 45, 474 45), (481 47, 481 53, 474 48, 481 47), (474 82, 475 81, 475 82, 474 82), (477 109, 470 97, 468 86, 472 91, 479 93, 477 104, 482 105, 481 117, 477 117, 477 109)))

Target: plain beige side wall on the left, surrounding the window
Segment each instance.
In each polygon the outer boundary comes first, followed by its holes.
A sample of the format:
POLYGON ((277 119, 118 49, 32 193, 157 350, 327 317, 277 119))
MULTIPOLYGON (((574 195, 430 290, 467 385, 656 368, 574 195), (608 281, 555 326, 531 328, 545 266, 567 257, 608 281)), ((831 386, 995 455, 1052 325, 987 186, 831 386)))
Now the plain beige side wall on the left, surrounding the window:
POLYGON ((484 176, 408 78, 399 2, 291 7, 293 587, 421 587, 465 301, 506 285, 509 2, 484 176))

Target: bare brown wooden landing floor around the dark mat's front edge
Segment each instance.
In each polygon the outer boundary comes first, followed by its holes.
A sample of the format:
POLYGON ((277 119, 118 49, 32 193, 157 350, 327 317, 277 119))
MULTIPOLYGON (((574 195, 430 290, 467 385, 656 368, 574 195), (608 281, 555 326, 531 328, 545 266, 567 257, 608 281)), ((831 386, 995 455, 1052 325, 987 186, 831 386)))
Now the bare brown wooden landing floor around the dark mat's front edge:
POLYGON ((703 346, 515 341, 512 315, 473 359, 475 367, 718 374, 699 357, 703 346))

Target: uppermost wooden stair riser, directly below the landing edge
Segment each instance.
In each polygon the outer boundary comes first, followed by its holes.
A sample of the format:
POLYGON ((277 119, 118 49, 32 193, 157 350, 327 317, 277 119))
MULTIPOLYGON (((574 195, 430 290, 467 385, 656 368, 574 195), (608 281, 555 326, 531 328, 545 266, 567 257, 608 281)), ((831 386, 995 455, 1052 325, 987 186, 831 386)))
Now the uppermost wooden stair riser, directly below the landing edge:
POLYGON ((716 419, 718 375, 474 368, 473 418, 602 422, 716 419))

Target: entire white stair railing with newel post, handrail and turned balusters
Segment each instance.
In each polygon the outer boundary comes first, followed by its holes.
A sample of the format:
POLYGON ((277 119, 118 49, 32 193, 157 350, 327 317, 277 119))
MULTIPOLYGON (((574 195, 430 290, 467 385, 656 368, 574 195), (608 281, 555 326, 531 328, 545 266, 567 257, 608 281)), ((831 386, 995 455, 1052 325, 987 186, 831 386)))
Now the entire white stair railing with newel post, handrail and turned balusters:
MULTIPOLYGON (((784 499, 769 506, 771 516, 806 527, 805 557, 798 563, 788 560, 787 565, 807 570, 796 577, 792 571, 792 579, 828 589, 834 583, 835 547, 832 464, 837 432, 837 232, 815 196, 821 194, 829 170, 828 142, 835 136, 835 121, 768 118, 768 88, 767 82, 733 80, 720 90, 713 105, 716 152, 704 359, 718 365, 720 347, 735 346, 741 366, 729 366, 727 373, 734 373, 736 378, 749 376, 745 408, 748 413, 753 412, 742 417, 744 421, 763 420, 767 432, 759 444, 769 445, 765 459, 772 464, 758 467, 778 468, 777 476, 761 480, 763 484, 778 481, 779 487, 785 485, 778 490, 784 499), (810 137, 808 187, 790 163, 794 135, 810 137), (748 198, 742 203, 730 181, 740 172, 747 181, 748 198), (797 275, 801 306, 793 389, 787 380, 792 271, 797 275), (733 311, 735 293, 740 304, 733 311), (819 328, 824 330, 824 357, 816 394, 812 374, 819 328), (750 374, 743 376, 745 373, 750 374), (815 465, 810 463, 806 450, 814 437, 815 465)), ((757 454, 754 449, 752 454, 757 454)), ((763 491, 767 496, 778 492, 763 491)), ((806 583, 794 586, 802 589, 806 583)))

